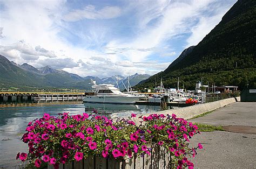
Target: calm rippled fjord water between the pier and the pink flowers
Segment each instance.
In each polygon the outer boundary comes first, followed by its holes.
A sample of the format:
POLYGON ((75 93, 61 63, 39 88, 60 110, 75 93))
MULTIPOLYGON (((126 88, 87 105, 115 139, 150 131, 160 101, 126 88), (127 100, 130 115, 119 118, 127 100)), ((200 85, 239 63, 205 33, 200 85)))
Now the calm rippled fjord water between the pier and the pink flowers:
POLYGON ((27 124, 44 113, 58 116, 69 112, 70 115, 83 112, 97 112, 110 118, 127 117, 132 113, 144 114, 159 111, 155 105, 134 104, 93 104, 80 102, 41 102, 21 104, 0 104, 0 168, 18 168, 18 152, 28 152, 26 144, 21 141, 27 124))

